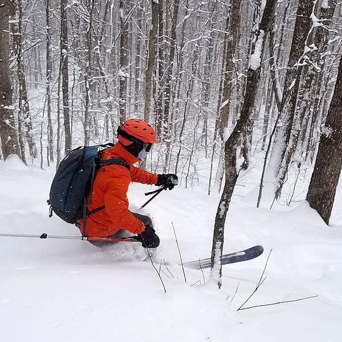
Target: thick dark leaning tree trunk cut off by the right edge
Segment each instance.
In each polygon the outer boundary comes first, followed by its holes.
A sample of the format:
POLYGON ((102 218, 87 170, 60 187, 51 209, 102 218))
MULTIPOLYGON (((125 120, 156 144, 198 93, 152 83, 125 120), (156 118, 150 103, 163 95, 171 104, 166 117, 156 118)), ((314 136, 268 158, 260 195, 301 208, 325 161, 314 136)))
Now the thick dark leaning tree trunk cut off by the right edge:
POLYGON ((329 224, 342 167, 342 58, 306 200, 329 224))

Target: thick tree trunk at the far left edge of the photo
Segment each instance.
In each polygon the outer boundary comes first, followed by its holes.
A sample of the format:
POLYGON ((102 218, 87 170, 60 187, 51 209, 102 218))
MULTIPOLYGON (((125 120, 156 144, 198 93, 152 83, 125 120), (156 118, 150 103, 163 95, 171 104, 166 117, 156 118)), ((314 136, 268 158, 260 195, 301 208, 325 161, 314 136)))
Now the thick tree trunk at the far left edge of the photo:
POLYGON ((19 155, 18 137, 14 123, 12 85, 10 79, 10 15, 13 3, 1 1, 0 6, 0 135, 3 159, 19 155))

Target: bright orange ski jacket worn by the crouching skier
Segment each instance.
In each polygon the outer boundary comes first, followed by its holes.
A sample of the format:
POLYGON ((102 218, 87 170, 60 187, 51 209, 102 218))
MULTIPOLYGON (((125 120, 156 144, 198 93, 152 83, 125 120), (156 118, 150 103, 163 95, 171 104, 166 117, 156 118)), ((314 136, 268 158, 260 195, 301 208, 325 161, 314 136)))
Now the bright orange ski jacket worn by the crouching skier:
MULTIPOLYGON (((144 184, 157 183, 157 174, 136 168, 133 163, 139 161, 125 150, 120 143, 104 150, 102 160, 112 157, 124 159, 130 170, 121 165, 101 167, 96 172, 92 187, 92 202, 88 210, 92 211, 105 205, 105 209, 87 216, 86 235, 89 237, 106 237, 117 233, 120 229, 131 233, 142 233, 144 224, 129 211, 127 190, 131 181, 144 184)), ((89 196, 88 196, 89 200, 89 196)), ((83 233, 83 220, 79 220, 79 230, 83 233)))

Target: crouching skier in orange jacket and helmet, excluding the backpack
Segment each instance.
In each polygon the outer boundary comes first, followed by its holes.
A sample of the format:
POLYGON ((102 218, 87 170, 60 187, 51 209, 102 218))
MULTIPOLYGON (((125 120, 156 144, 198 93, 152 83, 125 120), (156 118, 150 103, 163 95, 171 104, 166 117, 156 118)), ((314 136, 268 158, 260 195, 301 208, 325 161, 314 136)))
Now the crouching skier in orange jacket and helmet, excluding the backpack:
MULTIPOLYGON (((157 142, 154 129, 144 120, 129 119, 118 127, 118 142, 107 148, 101 160, 112 157, 124 159, 129 168, 122 165, 109 165, 99 168, 88 197, 88 211, 103 207, 86 217, 88 237, 118 237, 120 231, 137 234, 137 240, 144 248, 157 248, 159 237, 153 229, 152 220, 139 213, 129 211, 127 190, 131 181, 163 186, 173 189, 178 183, 176 174, 153 174, 133 166, 142 161, 157 142)), ((83 232, 83 220, 78 220, 83 232)), ((108 246, 110 241, 90 241, 98 247, 108 246)))

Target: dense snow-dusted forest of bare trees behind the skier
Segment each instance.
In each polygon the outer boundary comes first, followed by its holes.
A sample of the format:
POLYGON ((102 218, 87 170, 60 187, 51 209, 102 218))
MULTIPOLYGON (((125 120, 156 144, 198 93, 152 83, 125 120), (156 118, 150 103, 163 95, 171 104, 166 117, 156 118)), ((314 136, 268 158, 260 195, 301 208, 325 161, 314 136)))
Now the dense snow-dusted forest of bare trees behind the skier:
POLYGON ((329 224, 341 34, 341 0, 3 0, 0 160, 57 167, 142 118, 158 137, 142 167, 222 190, 213 259, 239 174, 256 163, 257 207, 291 202, 289 172, 313 169, 306 200, 329 224))

